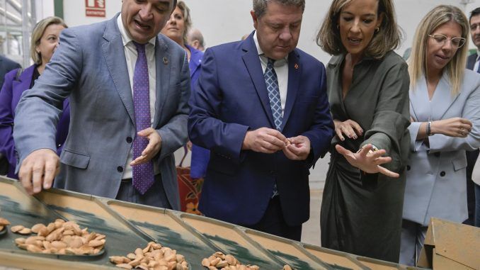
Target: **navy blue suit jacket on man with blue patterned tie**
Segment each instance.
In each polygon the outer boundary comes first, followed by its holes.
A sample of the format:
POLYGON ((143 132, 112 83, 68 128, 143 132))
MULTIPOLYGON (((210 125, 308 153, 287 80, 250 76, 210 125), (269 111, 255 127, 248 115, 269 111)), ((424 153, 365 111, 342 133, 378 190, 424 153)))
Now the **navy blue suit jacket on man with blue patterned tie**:
POLYGON ((298 49, 288 56, 288 65, 281 132, 309 138, 311 155, 304 161, 287 159, 282 152, 241 150, 247 130, 275 129, 253 34, 205 52, 188 118, 190 140, 212 152, 200 199, 205 215, 242 225, 258 223, 276 181, 286 223, 308 220, 309 167, 326 154, 333 122, 324 65, 298 49))

